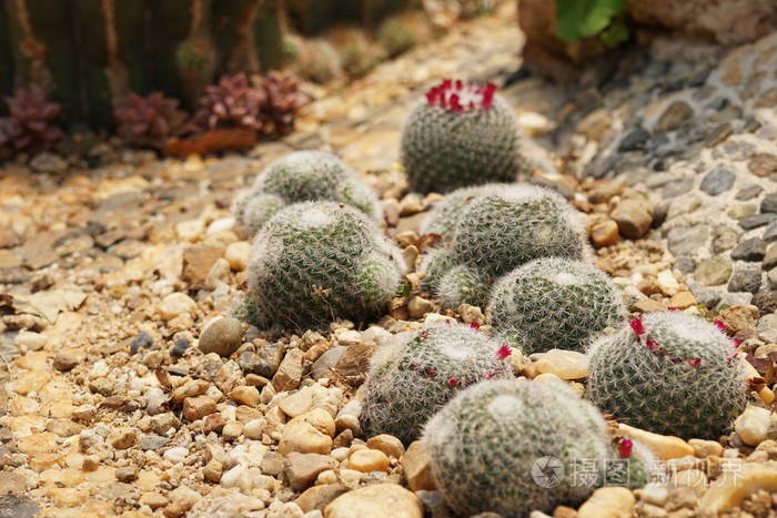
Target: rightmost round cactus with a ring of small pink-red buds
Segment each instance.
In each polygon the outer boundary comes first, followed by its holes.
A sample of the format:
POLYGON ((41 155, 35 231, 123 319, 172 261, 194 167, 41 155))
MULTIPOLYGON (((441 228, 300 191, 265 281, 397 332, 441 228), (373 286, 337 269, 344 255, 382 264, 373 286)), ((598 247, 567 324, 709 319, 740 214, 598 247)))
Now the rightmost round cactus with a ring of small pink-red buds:
POLYGON ((597 339, 588 355, 588 397, 629 425, 717 438, 745 408, 735 343, 702 318, 649 313, 597 339))

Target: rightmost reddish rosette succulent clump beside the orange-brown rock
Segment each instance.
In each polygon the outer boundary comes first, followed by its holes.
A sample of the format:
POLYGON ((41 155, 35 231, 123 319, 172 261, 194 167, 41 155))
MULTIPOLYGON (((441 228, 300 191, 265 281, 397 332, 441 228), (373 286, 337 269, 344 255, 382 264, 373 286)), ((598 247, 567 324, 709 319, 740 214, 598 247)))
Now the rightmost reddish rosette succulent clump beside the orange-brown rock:
POLYGON ((246 128, 279 135, 294 128, 294 115, 306 101, 290 75, 271 72, 254 85, 238 73, 205 88, 195 119, 208 129, 246 128))

